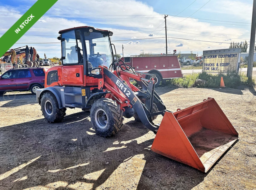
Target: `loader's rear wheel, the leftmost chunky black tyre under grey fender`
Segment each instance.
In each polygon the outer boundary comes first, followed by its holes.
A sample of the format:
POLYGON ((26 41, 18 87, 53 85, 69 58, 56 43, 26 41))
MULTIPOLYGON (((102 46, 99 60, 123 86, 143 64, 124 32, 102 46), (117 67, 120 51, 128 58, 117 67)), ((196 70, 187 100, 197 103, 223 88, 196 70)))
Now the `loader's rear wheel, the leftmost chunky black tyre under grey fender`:
POLYGON ((44 93, 41 99, 43 116, 49 123, 60 122, 66 115, 66 108, 59 108, 58 101, 53 93, 44 93))

